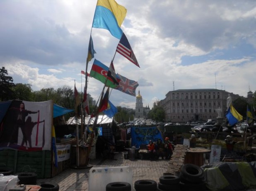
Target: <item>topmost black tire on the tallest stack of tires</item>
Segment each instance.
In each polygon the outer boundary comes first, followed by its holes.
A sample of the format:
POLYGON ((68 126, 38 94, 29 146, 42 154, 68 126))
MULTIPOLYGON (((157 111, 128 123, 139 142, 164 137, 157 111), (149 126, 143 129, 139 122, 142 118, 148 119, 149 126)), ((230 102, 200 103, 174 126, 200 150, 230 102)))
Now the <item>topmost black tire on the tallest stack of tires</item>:
POLYGON ((197 165, 185 164, 181 167, 181 179, 185 179, 188 182, 200 182, 203 177, 203 169, 197 165))

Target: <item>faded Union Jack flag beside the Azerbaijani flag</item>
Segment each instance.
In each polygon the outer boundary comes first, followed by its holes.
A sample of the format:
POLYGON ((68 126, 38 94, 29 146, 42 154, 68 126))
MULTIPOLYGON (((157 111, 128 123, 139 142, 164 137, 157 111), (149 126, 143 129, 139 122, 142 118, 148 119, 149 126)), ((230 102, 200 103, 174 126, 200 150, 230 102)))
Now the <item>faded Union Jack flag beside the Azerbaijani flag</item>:
POLYGON ((119 81, 119 85, 116 86, 114 89, 129 94, 131 96, 135 96, 135 90, 139 85, 138 82, 135 82, 134 80, 129 80, 128 78, 123 77, 120 74, 117 75, 121 79, 121 81, 119 81))

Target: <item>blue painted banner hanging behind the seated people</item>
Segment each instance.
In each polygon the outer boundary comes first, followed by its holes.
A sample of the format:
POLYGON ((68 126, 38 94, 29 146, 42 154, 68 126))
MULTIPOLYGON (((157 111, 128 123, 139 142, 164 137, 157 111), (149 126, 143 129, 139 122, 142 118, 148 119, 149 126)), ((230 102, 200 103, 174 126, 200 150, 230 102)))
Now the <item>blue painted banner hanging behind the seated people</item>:
POLYGON ((141 144, 148 144, 150 140, 157 142, 157 139, 163 141, 161 132, 157 127, 131 127, 132 146, 139 148, 141 144))

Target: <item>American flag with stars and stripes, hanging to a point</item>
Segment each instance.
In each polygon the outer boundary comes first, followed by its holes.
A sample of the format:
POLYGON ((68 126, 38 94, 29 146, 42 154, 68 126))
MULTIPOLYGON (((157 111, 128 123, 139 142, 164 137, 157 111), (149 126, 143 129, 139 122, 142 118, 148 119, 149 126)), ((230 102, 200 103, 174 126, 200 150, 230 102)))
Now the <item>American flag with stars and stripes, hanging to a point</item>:
POLYGON ((135 64, 136 66, 138 66, 140 68, 138 61, 133 53, 133 50, 130 47, 130 44, 129 44, 129 42, 126 38, 126 35, 124 33, 116 47, 116 52, 123 55, 128 60, 130 60, 133 64, 135 64))

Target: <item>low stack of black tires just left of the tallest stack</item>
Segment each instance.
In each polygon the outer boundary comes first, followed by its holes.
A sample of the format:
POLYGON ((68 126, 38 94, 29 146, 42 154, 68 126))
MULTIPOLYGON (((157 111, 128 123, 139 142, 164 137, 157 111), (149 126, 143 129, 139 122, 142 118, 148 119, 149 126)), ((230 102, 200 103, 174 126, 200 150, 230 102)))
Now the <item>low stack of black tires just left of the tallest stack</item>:
POLYGON ((175 175, 163 175, 159 178, 158 190, 159 191, 179 191, 180 188, 180 178, 175 175))

